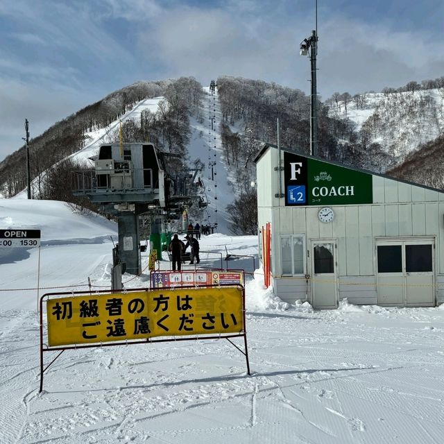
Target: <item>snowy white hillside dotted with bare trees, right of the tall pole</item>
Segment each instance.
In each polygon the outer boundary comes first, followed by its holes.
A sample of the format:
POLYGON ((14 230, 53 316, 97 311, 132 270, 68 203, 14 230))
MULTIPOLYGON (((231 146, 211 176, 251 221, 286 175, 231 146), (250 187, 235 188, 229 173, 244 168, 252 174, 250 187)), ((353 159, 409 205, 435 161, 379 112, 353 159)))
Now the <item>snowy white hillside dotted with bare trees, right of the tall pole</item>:
POLYGON ((366 145, 379 144, 397 163, 444 133, 442 87, 349 95, 328 104, 330 115, 352 122, 366 145))

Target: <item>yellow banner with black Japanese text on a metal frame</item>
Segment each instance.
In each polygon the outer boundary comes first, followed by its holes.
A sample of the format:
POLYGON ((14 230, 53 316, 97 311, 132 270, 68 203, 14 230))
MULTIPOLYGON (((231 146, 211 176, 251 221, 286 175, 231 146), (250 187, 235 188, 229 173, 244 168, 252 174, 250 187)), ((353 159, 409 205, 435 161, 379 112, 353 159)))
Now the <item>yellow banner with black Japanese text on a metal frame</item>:
POLYGON ((161 289, 50 299, 49 346, 244 332, 240 288, 161 289))

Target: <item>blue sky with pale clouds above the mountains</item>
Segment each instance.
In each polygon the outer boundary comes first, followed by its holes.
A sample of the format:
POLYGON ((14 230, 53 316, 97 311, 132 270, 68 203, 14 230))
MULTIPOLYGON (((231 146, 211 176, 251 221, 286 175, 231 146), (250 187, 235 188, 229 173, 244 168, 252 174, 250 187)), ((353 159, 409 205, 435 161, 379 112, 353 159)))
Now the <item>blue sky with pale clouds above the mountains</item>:
MULTIPOLYGON (((137 80, 231 75, 309 93, 315 0, 0 0, 0 161, 137 80)), ((318 92, 444 75, 443 0, 318 0, 318 92)))

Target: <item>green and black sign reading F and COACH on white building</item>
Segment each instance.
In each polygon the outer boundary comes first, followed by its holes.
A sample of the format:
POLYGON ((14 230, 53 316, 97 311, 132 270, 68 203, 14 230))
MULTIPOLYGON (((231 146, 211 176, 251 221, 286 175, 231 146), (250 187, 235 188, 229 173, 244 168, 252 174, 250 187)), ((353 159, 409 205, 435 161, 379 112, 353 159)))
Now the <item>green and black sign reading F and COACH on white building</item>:
POLYGON ((284 152, 285 205, 373 203, 373 176, 284 152))

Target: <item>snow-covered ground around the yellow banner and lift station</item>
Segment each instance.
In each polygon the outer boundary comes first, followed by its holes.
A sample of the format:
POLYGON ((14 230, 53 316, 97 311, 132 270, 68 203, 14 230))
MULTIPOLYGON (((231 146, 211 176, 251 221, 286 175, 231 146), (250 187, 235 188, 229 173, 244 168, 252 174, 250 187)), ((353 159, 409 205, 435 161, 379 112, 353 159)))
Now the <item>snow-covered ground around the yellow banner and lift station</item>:
MULTIPOLYGON (((65 203, 3 199, 8 228, 42 230, 40 296, 85 290, 88 277, 109 288, 113 223, 65 203)), ((257 254, 256 237, 212 234, 200 244, 224 257, 225 246, 257 254)), ((67 350, 39 394, 38 253, 0 257, 2 444, 443 442, 443 307, 314 311, 274 298, 260 270, 246 283, 252 375, 223 339, 67 350)), ((230 268, 252 270, 239 261, 230 268)), ((146 287, 147 271, 123 282, 146 287)), ((55 356, 45 353, 46 364, 55 356)))

